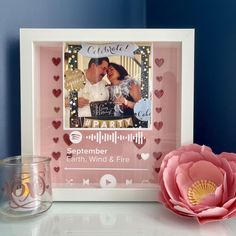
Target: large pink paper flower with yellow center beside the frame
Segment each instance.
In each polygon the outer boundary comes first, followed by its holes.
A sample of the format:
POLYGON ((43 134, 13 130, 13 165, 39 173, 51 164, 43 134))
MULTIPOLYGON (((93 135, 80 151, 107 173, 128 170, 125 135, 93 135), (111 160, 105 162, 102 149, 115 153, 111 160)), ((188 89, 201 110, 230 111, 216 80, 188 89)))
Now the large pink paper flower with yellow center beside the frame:
POLYGON ((167 154, 159 173, 161 201, 206 223, 236 216, 236 154, 192 144, 167 154))

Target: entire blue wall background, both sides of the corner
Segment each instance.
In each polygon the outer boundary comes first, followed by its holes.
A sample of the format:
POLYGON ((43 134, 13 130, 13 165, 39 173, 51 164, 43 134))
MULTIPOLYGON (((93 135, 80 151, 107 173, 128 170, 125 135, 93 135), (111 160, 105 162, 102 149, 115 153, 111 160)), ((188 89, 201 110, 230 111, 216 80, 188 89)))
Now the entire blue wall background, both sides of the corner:
POLYGON ((194 141, 236 152, 236 1, 2 0, 0 157, 20 153, 20 28, 195 28, 194 141))

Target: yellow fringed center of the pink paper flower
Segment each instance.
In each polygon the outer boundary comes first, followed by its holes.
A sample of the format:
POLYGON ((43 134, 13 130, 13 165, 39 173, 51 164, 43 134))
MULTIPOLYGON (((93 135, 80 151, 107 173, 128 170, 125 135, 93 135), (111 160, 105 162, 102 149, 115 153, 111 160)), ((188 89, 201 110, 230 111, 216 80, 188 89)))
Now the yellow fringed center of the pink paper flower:
POLYGON ((216 184, 210 180, 198 180, 188 189, 188 200, 192 205, 197 205, 207 195, 214 193, 216 184))

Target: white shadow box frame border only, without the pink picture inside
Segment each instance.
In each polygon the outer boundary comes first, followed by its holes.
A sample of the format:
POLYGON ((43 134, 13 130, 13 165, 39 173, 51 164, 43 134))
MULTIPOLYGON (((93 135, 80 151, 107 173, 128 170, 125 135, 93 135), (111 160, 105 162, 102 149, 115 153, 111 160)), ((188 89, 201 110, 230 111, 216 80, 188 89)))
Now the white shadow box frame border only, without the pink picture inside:
MULTIPOLYGON (((21 149, 39 155, 37 134, 38 45, 64 42, 177 42, 181 44, 180 140, 193 142, 194 29, 20 29, 21 149)), ((63 55, 62 55, 63 57, 63 55)), ((52 183, 53 184, 53 183, 52 183)), ((77 188, 52 185, 54 201, 156 201, 153 188, 77 188)))

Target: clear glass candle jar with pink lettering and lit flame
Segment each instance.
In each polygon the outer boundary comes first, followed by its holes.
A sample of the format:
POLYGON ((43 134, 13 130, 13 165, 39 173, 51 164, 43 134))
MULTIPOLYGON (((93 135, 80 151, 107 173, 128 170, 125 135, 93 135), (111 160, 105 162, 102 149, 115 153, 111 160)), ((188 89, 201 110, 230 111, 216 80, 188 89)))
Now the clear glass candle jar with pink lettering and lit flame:
POLYGON ((40 156, 0 160, 0 214, 31 216, 52 205, 50 161, 40 156))

